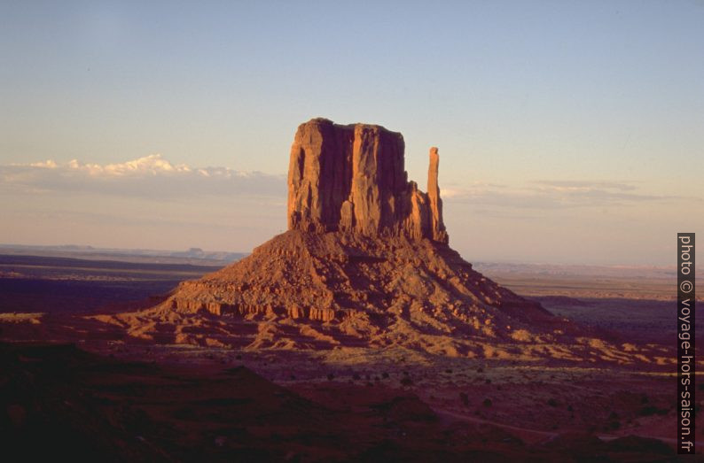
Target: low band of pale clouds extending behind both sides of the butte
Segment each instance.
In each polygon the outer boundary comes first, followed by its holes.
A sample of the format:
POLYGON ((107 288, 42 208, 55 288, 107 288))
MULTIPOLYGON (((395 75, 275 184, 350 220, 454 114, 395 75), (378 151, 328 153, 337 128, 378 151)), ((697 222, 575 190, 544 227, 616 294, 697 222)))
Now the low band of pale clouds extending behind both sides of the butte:
MULTIPOLYGON (((52 159, 0 166, 0 189, 15 193, 80 192, 166 200, 179 197, 267 197, 286 202, 286 176, 241 172, 228 167, 174 165, 160 154, 117 164, 59 164, 52 159)), ((627 181, 529 181, 524 186, 475 182, 442 188, 452 203, 493 208, 554 210, 699 198, 645 194, 627 181)))

